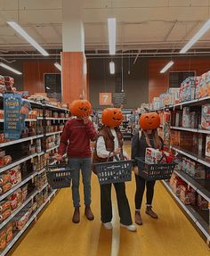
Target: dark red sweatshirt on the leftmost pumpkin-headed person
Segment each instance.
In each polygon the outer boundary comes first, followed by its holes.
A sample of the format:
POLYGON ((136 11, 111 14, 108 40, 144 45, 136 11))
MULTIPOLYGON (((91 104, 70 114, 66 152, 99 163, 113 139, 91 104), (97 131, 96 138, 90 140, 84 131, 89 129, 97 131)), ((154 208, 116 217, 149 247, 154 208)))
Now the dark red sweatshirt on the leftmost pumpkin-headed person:
POLYGON ((91 157, 90 140, 95 140, 97 133, 92 121, 72 119, 66 122, 61 135, 59 154, 66 153, 71 158, 91 157))

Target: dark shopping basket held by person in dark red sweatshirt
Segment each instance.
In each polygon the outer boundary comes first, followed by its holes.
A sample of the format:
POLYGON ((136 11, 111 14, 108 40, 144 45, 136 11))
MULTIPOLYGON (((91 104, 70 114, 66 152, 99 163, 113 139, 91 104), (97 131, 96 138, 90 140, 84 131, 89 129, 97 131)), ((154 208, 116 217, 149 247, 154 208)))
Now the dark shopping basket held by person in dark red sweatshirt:
POLYGON ((53 189, 69 187, 71 184, 71 169, 66 163, 47 165, 46 176, 53 189))

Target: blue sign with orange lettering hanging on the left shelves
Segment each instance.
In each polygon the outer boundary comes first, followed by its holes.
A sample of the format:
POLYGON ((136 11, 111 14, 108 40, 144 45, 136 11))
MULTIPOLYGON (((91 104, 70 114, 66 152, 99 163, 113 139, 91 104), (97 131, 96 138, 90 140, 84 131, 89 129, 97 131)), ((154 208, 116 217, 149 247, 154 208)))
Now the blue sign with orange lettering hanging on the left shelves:
POLYGON ((21 95, 4 94, 4 138, 20 138, 22 130, 22 122, 20 120, 21 104, 21 95))

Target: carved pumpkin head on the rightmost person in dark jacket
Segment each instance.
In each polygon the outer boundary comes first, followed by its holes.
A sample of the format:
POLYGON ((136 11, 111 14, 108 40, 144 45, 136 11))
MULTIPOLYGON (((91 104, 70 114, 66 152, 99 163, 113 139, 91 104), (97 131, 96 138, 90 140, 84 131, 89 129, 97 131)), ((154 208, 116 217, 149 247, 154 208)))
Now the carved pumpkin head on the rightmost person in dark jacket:
POLYGON ((156 129, 160 125, 160 118, 156 112, 143 113, 139 123, 143 130, 156 129))

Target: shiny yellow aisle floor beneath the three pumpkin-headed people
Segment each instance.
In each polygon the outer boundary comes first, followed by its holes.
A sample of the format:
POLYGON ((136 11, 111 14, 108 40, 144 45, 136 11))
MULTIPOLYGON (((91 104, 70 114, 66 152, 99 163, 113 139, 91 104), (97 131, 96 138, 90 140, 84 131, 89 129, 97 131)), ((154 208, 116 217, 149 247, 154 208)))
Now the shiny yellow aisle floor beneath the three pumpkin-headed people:
MULTIPOLYGON (((81 186, 82 191, 82 186, 81 186)), ((127 183, 127 195, 134 211, 134 179, 127 183)), ((113 190, 114 191, 114 190, 113 190)), ((115 198, 115 194, 113 194, 115 198)), ((83 197, 82 197, 83 200, 83 197)), ((93 212, 90 222, 83 216, 76 225, 71 222, 73 207, 70 189, 62 189, 38 219, 13 256, 205 256, 209 250, 190 221, 175 204, 160 182, 154 200, 159 219, 150 219, 142 212, 143 226, 131 233, 118 225, 117 201, 114 201, 114 229, 105 230, 100 221, 100 190, 93 176, 93 212)))

